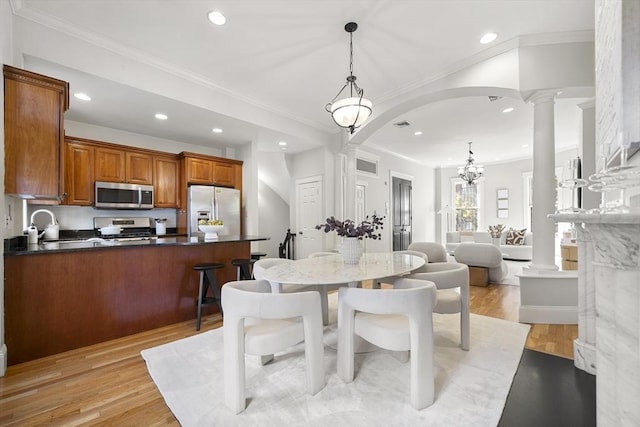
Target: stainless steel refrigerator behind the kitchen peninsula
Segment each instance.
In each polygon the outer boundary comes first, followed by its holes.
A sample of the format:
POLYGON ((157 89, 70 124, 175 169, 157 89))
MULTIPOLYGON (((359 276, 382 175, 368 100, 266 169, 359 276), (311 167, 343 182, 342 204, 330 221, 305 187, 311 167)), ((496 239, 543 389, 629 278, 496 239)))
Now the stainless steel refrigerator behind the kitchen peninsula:
POLYGON ((222 220, 224 228, 218 232, 221 236, 240 235, 240 190, 191 185, 187 205, 189 236, 200 233, 198 221, 201 219, 222 220))

